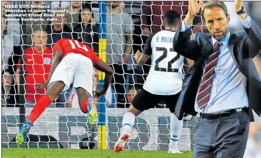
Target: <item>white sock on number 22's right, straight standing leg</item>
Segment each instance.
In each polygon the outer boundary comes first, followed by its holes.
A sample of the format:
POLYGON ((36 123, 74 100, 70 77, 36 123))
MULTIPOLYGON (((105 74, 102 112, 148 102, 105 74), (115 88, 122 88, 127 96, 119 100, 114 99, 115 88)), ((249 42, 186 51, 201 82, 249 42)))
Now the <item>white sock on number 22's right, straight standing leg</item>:
POLYGON ((183 126, 183 119, 178 120, 178 118, 175 115, 172 115, 170 121, 170 130, 171 130, 170 148, 171 149, 178 149, 178 140, 180 138, 182 126, 183 126))

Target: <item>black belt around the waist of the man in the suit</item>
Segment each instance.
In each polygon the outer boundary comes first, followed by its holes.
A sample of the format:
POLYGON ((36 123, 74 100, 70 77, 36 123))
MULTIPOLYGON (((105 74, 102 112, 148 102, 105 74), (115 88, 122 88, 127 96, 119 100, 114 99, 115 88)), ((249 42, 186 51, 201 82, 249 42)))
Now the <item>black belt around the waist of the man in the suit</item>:
POLYGON ((233 113, 238 113, 238 112, 242 112, 242 111, 243 111, 243 109, 240 108, 240 109, 232 109, 232 110, 229 110, 229 111, 226 111, 226 112, 222 112, 222 113, 213 113, 213 114, 203 114, 203 113, 200 113, 200 117, 202 119, 210 120, 210 119, 217 119, 217 118, 228 117, 228 116, 230 116, 233 113))

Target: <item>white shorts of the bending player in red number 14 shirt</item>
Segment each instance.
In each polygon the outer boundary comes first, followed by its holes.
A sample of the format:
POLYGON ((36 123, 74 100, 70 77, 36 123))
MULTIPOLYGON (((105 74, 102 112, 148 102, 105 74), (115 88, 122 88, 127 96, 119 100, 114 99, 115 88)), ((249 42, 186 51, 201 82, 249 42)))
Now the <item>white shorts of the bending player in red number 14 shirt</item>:
POLYGON ((81 54, 69 53, 57 66, 49 84, 55 81, 63 81, 65 87, 62 92, 67 90, 70 84, 73 84, 76 93, 75 88, 82 87, 92 95, 92 76, 92 61, 81 54))

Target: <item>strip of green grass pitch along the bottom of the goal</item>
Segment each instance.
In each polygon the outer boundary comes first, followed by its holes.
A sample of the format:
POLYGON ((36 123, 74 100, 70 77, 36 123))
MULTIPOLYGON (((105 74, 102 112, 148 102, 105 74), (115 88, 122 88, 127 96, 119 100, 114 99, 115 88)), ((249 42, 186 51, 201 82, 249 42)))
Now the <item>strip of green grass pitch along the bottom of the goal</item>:
POLYGON ((2 148, 3 158, 192 158, 193 151, 184 151, 183 154, 169 154, 168 151, 123 150, 115 153, 114 150, 92 149, 47 149, 47 148, 2 148))

